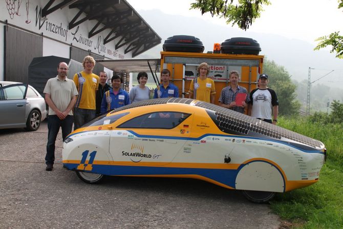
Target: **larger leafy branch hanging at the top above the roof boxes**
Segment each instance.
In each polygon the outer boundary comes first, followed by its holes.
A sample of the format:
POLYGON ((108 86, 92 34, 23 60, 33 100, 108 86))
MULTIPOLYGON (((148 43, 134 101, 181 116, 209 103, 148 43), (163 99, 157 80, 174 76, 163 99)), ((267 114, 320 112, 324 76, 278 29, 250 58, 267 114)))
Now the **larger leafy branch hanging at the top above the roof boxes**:
POLYGON ((237 24, 241 29, 247 30, 255 18, 260 17, 263 5, 269 5, 268 0, 238 0, 238 4, 232 4, 233 0, 196 0, 190 4, 191 9, 200 9, 201 13, 210 12, 226 19, 226 23, 237 24), (228 3, 229 2, 229 3, 228 3))

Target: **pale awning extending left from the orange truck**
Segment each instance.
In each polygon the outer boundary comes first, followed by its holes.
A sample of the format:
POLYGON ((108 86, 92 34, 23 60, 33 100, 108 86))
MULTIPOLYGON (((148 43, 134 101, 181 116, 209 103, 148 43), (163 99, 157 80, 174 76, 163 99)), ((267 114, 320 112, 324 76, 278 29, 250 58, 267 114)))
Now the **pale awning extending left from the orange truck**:
POLYGON ((97 59, 96 63, 114 72, 160 72, 161 59, 97 59))

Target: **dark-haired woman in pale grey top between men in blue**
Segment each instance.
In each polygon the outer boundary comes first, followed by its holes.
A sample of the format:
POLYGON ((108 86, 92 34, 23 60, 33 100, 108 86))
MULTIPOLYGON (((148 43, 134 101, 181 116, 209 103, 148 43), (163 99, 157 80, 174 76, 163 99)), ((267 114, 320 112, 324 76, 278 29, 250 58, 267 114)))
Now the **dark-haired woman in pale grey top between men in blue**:
POLYGON ((133 87, 128 93, 131 103, 143 101, 150 98, 150 90, 148 87, 145 86, 147 82, 146 72, 138 73, 137 80, 139 82, 139 85, 133 87))

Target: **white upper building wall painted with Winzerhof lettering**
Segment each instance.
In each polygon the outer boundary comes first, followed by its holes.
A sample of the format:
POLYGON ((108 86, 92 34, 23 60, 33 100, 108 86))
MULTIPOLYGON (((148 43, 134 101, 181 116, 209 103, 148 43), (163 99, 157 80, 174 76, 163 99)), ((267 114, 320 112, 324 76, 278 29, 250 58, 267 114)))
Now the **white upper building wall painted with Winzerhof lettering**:
MULTIPOLYGON (((61 2, 62 0, 57 0, 51 7, 61 2)), ((78 9, 69 9, 69 7, 65 7, 52 12, 46 18, 42 18, 41 9, 47 3, 47 0, 0 1, 0 20, 3 22, 8 20, 10 25, 15 25, 19 28, 39 34, 43 33, 44 36, 60 40, 68 46, 72 44, 73 47, 91 50, 93 53, 101 56, 104 55, 111 59, 132 58, 132 51, 124 54, 124 50, 127 46, 117 50, 115 49, 115 44, 121 37, 117 37, 115 40, 103 45, 103 39, 109 34, 111 29, 106 29, 95 36, 88 38, 89 31, 91 31, 97 23, 96 20, 87 20, 69 30, 69 22, 71 22, 74 16, 79 12, 78 9)), ((86 15, 82 13, 79 19, 84 16, 86 15)), ((4 43, 0 43, 0 46, 1 44, 4 43)), ((49 55, 56 49, 56 46, 51 46, 49 49, 52 49, 52 51, 50 51, 47 47, 48 46, 46 45, 44 50, 50 52, 49 55)), ((64 55, 65 50, 62 52, 64 55)))

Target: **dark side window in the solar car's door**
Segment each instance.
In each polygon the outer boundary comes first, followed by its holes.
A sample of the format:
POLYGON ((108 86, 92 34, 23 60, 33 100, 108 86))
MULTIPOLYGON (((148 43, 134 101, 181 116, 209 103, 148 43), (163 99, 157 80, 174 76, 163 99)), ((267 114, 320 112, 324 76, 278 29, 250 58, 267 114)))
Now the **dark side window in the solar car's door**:
POLYGON ((154 112, 132 118, 117 128, 173 129, 189 117, 180 112, 154 112))

